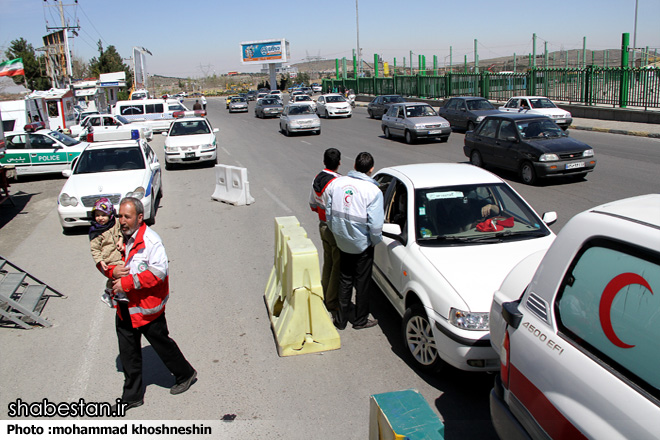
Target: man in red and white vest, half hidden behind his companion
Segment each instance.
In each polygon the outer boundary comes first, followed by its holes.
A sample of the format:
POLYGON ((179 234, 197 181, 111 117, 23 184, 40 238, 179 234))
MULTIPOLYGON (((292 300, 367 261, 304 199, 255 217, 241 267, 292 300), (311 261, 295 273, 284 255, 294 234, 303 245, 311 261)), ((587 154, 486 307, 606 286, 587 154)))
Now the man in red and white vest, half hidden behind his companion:
POLYGON ((334 179, 340 176, 337 173, 341 164, 341 153, 336 148, 328 148, 323 153, 323 165, 325 169, 316 175, 312 182, 312 191, 309 194, 309 207, 319 216, 319 233, 323 242, 323 271, 321 274, 321 286, 323 286, 323 301, 325 307, 333 316, 339 310, 339 248, 335 242, 332 231, 328 228, 325 217, 325 202, 323 194, 334 179))

